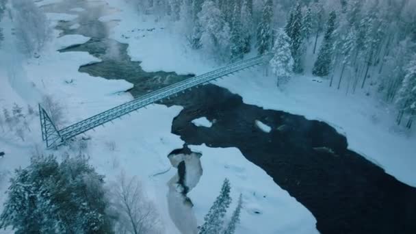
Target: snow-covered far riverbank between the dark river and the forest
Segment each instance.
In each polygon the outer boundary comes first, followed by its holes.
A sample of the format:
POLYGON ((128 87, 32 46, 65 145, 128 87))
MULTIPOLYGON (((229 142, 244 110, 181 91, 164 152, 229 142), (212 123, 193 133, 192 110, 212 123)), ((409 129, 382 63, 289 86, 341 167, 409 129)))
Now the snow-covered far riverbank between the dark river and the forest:
MULTIPOLYGON (((129 55, 132 60, 142 61, 144 70, 200 75, 218 66, 201 51, 192 51, 171 21, 155 23, 152 16, 138 16, 126 3, 106 1, 122 9, 112 16, 122 18, 114 29, 114 38, 129 43, 129 55)), ((416 134, 394 125, 396 112, 392 107, 365 96, 364 91, 346 95, 345 90, 329 88, 329 81, 311 75, 292 77, 279 89, 275 77, 263 74, 263 68, 255 68, 216 84, 242 96, 244 103, 327 122, 346 135, 348 148, 416 187, 416 134)))

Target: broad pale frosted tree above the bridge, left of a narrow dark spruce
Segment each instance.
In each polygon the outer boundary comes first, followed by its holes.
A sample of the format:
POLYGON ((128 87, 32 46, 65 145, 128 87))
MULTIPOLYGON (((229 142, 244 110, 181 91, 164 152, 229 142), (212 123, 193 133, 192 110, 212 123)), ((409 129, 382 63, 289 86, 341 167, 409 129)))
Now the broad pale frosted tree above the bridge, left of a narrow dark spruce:
POLYGON ((230 27, 213 1, 205 1, 198 14, 203 49, 216 58, 229 58, 230 27))

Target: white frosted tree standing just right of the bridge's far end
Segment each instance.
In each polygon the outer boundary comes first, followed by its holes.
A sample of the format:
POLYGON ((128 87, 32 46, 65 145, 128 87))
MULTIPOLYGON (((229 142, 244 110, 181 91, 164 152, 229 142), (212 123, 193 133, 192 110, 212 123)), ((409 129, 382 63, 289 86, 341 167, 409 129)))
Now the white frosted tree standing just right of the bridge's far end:
POLYGON ((278 29, 276 41, 272 49, 273 58, 270 60, 272 73, 277 77, 277 86, 291 77, 294 60, 291 57, 290 38, 283 29, 278 29))

